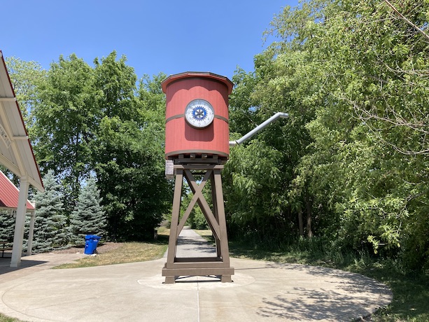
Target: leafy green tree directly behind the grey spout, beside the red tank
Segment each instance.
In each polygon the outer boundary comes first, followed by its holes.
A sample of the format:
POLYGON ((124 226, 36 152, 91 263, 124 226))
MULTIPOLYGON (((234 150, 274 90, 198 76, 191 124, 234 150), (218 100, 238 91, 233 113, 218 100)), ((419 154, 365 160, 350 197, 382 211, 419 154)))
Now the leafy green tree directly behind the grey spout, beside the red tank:
POLYGON ((283 244, 285 239, 304 233, 299 220, 303 213, 307 214, 307 235, 313 231, 314 198, 306 185, 295 193, 290 193, 290 186, 297 176, 295 167, 311 144, 306 125, 314 118, 314 102, 321 97, 304 96, 312 87, 308 86, 310 70, 302 51, 287 48, 287 52, 277 54, 274 49, 255 57, 253 73, 238 71, 234 75, 230 128, 232 135, 241 136, 276 112, 287 112, 290 118, 277 120, 253 141, 231 148, 225 168, 225 195, 228 216, 232 222, 241 222, 236 229, 258 235, 262 241, 272 239, 283 244), (248 216, 242 214, 246 211, 248 216))

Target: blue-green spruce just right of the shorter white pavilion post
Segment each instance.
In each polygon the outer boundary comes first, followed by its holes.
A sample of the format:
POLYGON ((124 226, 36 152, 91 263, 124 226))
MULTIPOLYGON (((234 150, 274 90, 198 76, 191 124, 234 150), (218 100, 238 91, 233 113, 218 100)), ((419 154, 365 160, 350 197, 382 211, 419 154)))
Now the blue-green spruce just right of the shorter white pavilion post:
POLYGON ((66 246, 69 240, 67 218, 62 203, 62 186, 52 170, 43 178, 45 192, 36 194, 33 251, 38 253, 66 246))

